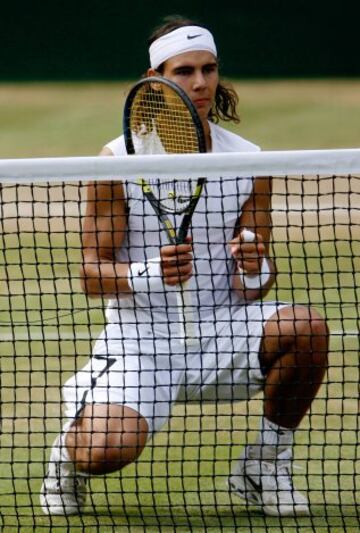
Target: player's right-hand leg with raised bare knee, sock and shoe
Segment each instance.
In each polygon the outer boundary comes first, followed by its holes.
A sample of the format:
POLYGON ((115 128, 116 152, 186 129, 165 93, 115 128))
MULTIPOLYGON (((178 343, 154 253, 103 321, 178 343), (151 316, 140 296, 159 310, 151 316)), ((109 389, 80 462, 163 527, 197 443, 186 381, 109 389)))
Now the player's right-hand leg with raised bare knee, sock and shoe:
POLYGON ((286 307, 264 329, 264 417, 229 478, 230 489, 270 515, 309 514, 307 498, 292 484, 294 430, 310 407, 327 368, 328 330, 303 307, 286 307))

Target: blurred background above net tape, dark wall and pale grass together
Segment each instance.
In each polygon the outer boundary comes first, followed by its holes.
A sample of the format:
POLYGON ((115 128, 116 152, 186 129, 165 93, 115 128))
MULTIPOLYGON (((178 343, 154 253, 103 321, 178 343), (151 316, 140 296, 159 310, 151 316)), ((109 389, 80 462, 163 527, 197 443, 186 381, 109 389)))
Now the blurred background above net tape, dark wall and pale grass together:
POLYGON ((147 38, 181 14, 214 33, 234 80, 235 129, 265 150, 359 146, 355 0, 40 0, 6 3, 0 32, 0 157, 94 155, 122 131, 147 38), (20 83, 19 83, 20 82, 20 83))

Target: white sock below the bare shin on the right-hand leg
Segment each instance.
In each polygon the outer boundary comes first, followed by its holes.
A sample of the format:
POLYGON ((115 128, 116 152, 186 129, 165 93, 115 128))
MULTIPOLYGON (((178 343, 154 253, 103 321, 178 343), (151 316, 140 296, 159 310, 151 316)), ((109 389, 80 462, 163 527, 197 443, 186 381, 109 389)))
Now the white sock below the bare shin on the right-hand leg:
POLYGON ((249 447, 249 456, 256 459, 275 459, 294 444, 294 430, 271 422, 264 416, 255 445, 249 447))

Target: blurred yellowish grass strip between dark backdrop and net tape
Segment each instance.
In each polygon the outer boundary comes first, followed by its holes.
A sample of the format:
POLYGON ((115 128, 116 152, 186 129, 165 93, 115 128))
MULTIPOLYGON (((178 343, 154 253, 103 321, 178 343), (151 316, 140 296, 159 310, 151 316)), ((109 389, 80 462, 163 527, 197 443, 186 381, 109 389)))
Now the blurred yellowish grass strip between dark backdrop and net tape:
MULTIPOLYGON (((242 122, 267 150, 359 146, 360 80, 239 81, 242 122)), ((122 131, 129 83, 0 84, 0 157, 94 155, 122 131)))

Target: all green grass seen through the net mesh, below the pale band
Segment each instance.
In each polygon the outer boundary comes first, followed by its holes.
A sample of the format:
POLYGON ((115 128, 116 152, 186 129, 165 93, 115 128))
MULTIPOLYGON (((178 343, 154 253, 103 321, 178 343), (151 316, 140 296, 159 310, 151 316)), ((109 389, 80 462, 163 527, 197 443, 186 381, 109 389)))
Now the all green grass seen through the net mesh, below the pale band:
MULTIPOLYGON (((296 484, 309 494, 311 518, 265 518, 231 499, 226 490, 231 461, 254 438, 261 397, 249 404, 177 406, 169 427, 155 437, 135 465, 121 474, 92 480, 92 498, 83 517, 42 516, 38 492, 49 448, 61 425, 60 387, 91 352, 91 339, 75 340, 71 334, 76 330, 79 337, 96 338, 103 325, 101 302, 89 305, 80 291, 78 235, 67 234, 66 241, 61 233, 52 236, 55 267, 44 239, 42 233, 24 234, 20 242, 17 235, 8 235, 6 261, 2 259, 10 266, 7 276, 0 267, 1 278, 7 277, 1 288, 0 333, 11 333, 6 322, 12 321, 15 327, 15 340, 1 343, 0 511, 5 531, 19 526, 30 531, 33 523, 39 530, 70 524, 74 531, 83 524, 94 531, 100 526, 102 531, 127 526, 132 531, 166 531, 175 525, 177 531, 233 527, 255 531, 279 527, 311 531, 316 527, 321 531, 324 517, 326 527, 334 531, 345 525, 347 531, 356 530, 359 341, 341 334, 332 337, 327 382, 297 435, 296 458, 303 470, 296 472, 296 484), (59 254, 65 242, 66 257, 59 254), (26 287, 20 281, 25 264, 26 287), (47 340, 37 340, 41 332, 47 340)), ((280 289, 269 298, 316 305, 326 312, 333 332, 356 328, 359 289, 349 292, 332 272, 332 261, 340 261, 343 270, 350 266, 355 272, 360 270, 358 257, 350 257, 348 243, 336 249, 329 242, 321 248, 315 243, 278 243, 274 253, 280 289), (328 274, 322 276, 318 272, 324 258, 328 274), (296 274, 306 268, 308 275, 296 274), (292 279, 289 271, 294 272, 292 279)))

